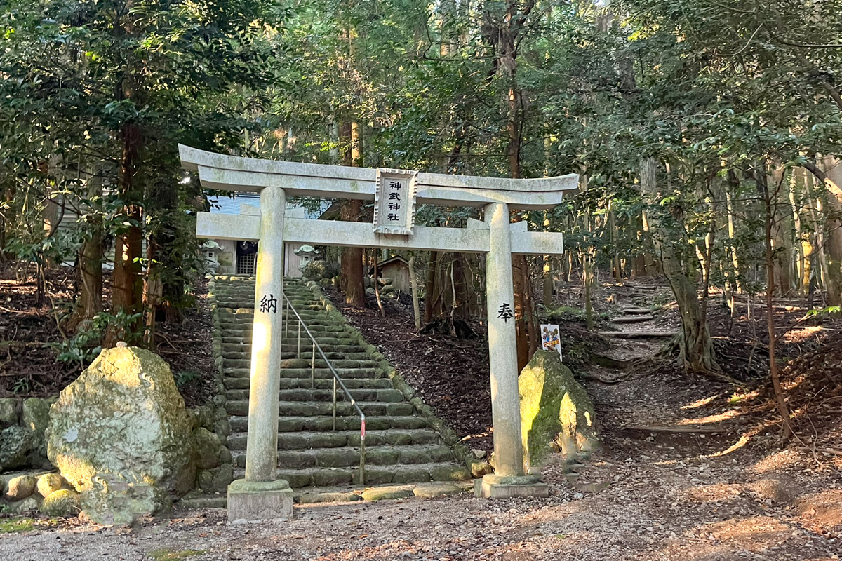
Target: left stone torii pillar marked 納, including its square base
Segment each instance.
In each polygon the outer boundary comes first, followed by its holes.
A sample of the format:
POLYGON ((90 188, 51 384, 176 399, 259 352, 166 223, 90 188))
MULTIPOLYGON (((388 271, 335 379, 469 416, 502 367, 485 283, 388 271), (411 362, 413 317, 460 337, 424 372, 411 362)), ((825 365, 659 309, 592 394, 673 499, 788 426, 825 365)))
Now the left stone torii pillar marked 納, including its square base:
POLYGON ((276 479, 285 207, 283 188, 273 186, 260 190, 246 477, 228 486, 228 521, 292 518, 290 484, 285 479, 276 479))

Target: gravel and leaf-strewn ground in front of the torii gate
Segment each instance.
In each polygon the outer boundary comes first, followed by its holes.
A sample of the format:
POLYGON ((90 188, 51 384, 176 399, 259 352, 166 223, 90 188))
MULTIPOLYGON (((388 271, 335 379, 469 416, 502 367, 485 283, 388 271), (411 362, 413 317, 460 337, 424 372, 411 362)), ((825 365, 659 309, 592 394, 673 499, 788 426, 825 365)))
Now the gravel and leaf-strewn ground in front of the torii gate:
MULTIPOLYGON (((62 523, 0 538, 0 556, 48 559, 828 559, 839 490, 696 462, 597 461, 596 494, 554 485, 546 500, 468 495, 296 506, 296 519, 228 525, 221 509, 135 528, 62 523), (616 479, 616 481, 615 481, 616 479), (821 507, 817 508, 818 503, 821 507)), ((177 515, 179 516, 179 515, 177 515)))

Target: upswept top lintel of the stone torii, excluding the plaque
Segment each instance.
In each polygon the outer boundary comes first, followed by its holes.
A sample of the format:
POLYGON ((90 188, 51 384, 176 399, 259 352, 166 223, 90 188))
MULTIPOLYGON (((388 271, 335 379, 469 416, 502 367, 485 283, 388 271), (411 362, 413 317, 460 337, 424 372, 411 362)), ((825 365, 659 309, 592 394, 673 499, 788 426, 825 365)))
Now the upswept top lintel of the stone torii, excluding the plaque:
MULTIPOLYGON (((377 170, 371 167, 325 166, 294 161, 226 156, 179 145, 184 169, 199 173, 205 188, 257 192, 284 188, 290 195, 322 198, 373 199, 377 170)), ((578 175, 536 179, 475 177, 418 173, 418 203, 481 207, 506 203, 513 209, 551 209, 562 193, 575 190, 578 175)))

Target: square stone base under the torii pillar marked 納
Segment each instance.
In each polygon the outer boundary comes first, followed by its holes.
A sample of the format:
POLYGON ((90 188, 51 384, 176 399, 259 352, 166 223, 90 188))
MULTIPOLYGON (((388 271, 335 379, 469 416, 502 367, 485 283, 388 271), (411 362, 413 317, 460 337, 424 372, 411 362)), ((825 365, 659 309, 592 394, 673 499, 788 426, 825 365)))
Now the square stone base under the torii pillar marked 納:
POLYGON ((228 485, 228 521, 292 520, 292 490, 284 479, 228 485))

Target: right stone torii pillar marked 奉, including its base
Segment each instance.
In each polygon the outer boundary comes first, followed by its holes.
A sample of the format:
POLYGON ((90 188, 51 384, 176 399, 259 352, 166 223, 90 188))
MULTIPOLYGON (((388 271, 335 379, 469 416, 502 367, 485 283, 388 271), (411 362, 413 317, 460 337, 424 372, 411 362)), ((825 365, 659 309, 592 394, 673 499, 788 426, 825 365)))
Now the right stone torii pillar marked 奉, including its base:
POLYGON ((546 497, 549 487, 524 471, 509 205, 488 204, 485 221, 490 241, 486 254, 486 290, 494 473, 484 476, 475 492, 492 499, 546 497))

